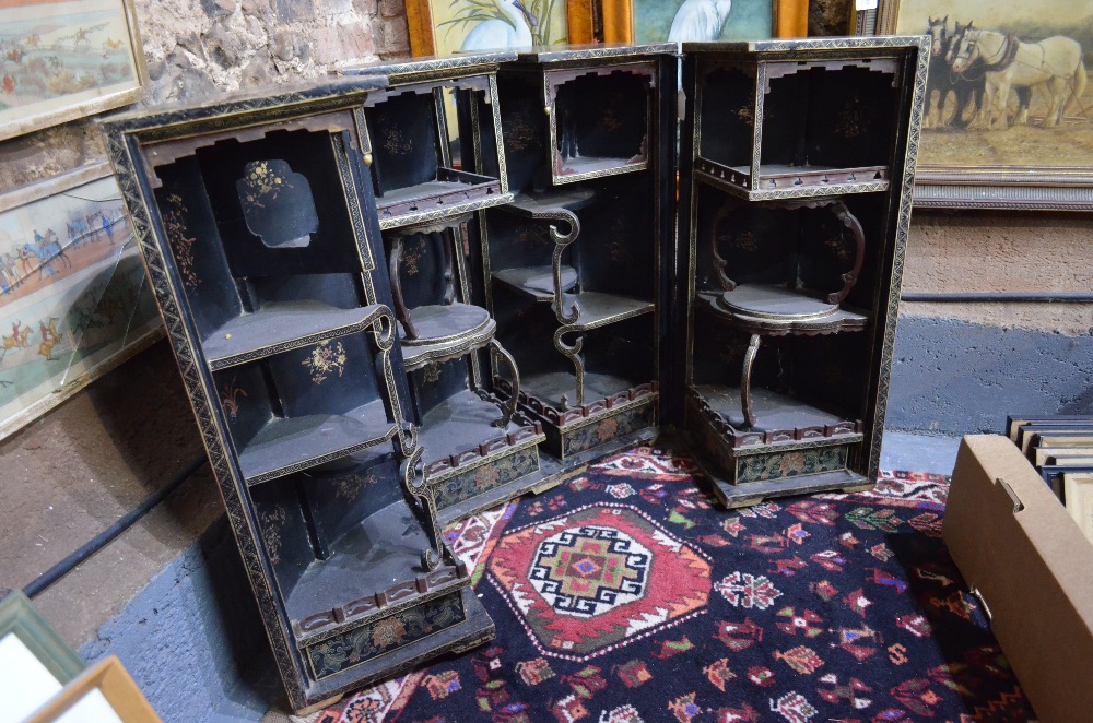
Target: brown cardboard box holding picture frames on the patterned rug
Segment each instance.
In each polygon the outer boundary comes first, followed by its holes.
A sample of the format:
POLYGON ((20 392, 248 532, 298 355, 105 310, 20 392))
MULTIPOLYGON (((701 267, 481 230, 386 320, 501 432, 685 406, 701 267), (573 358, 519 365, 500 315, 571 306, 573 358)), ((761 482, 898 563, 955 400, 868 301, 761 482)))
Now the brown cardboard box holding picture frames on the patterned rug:
POLYGON ((1093 715, 1093 545, 1006 437, 965 437, 942 534, 1041 721, 1093 715))

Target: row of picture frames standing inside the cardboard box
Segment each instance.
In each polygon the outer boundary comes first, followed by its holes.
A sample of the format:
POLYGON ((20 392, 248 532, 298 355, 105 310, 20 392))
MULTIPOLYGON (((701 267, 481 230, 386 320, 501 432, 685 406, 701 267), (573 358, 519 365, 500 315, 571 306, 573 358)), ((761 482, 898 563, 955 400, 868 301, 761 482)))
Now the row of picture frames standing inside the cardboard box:
POLYGON ((1011 416, 1006 432, 1093 543, 1093 415, 1011 416))

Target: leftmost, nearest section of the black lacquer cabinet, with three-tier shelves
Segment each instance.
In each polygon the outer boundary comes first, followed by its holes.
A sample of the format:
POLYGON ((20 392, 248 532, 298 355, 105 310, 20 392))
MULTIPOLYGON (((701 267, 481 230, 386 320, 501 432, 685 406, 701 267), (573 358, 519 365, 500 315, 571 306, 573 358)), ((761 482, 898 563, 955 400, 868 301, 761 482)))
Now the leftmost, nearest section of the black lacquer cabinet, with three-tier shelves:
POLYGON ((442 540, 404 412, 362 152, 361 106, 384 86, 320 83, 107 123, 296 710, 493 635, 442 540))

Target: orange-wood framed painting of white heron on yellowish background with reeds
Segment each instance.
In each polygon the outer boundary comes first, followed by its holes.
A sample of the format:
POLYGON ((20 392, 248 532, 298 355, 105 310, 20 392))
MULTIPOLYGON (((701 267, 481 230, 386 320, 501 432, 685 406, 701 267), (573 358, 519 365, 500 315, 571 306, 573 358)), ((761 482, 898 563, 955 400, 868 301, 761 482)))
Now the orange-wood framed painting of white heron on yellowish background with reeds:
POLYGON ((569 36, 566 0, 407 0, 415 58, 591 42, 591 0, 574 0, 587 37, 569 36))

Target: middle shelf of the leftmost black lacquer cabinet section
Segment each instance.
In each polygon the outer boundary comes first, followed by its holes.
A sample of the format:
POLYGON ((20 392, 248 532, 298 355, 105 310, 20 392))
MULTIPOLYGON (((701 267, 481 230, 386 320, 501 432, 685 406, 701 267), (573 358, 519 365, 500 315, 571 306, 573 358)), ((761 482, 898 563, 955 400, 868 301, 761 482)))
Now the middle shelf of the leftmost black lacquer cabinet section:
POLYGON ((239 467, 247 485, 257 485, 376 447, 397 432, 383 400, 345 414, 273 417, 238 450, 239 467))

